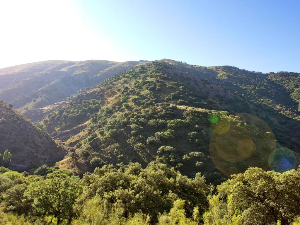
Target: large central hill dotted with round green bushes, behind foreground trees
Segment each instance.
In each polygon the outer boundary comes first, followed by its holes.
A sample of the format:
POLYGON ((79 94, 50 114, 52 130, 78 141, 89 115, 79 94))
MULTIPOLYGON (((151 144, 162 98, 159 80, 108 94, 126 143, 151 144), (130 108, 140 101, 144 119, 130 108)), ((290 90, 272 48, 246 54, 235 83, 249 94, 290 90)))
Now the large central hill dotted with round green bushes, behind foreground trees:
POLYGON ((249 166, 296 166, 298 121, 204 79, 217 74, 212 69, 189 67, 166 60, 142 65, 53 110, 38 126, 77 149, 60 167, 75 165, 80 173, 93 170, 93 158, 144 166, 156 159, 219 183, 249 166))

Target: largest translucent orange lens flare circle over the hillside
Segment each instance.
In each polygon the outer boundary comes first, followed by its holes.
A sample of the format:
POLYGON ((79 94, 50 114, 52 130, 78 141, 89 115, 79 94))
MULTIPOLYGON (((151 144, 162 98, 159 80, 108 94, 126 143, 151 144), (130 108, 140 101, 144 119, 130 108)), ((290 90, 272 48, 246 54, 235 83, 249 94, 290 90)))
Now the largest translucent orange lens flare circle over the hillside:
MULTIPOLYGON (((259 117, 238 114, 210 125, 209 151, 217 169, 230 177, 248 167, 267 170, 274 160, 276 142, 271 128, 259 117)), ((289 160, 282 164, 289 167, 289 160)))

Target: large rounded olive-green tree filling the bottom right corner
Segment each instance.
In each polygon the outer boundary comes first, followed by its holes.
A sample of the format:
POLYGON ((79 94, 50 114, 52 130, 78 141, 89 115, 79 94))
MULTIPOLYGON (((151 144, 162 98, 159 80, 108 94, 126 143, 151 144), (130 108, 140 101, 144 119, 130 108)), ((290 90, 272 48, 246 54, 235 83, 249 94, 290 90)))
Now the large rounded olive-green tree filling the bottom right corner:
POLYGON ((299 180, 300 169, 278 173, 250 167, 217 187, 219 194, 209 199, 210 210, 204 216, 209 222, 212 216, 230 221, 226 224, 235 224, 236 216, 245 225, 291 224, 300 215, 299 180))

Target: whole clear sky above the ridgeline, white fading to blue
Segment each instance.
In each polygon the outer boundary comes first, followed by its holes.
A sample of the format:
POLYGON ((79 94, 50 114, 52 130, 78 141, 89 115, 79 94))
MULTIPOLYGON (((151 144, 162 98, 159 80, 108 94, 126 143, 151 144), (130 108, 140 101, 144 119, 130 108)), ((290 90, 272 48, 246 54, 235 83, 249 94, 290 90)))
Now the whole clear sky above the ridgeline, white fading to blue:
POLYGON ((0 68, 170 58, 300 72, 300 1, 1 1, 0 68))

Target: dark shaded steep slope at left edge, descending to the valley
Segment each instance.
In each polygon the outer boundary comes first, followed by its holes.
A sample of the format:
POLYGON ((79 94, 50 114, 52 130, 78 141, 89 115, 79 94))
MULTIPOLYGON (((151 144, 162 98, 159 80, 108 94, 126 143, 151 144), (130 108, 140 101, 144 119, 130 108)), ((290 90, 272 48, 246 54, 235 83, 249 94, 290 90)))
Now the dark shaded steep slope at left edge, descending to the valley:
POLYGON ((55 163, 66 155, 45 131, 0 101, 0 153, 5 149, 12 154, 10 166, 16 170, 55 163))

